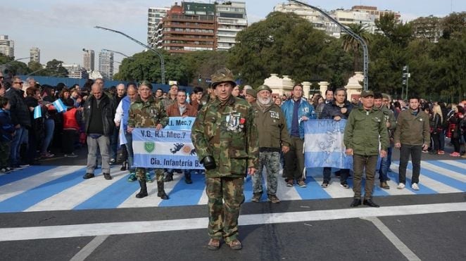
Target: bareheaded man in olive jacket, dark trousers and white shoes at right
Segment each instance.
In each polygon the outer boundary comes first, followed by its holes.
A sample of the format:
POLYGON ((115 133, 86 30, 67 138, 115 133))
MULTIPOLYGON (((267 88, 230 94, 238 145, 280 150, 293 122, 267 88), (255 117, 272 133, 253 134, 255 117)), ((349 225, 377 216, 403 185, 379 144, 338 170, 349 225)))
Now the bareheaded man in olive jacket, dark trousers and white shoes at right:
POLYGON ((409 99, 408 110, 403 110, 398 115, 398 125, 395 131, 395 147, 400 149, 400 166, 398 169, 399 183, 397 189, 404 189, 406 184, 406 167, 408 160, 413 163, 413 177, 411 177, 411 189, 419 190, 419 175, 421 172, 422 149, 429 147, 430 126, 429 115, 419 108, 420 98, 412 96, 409 99))

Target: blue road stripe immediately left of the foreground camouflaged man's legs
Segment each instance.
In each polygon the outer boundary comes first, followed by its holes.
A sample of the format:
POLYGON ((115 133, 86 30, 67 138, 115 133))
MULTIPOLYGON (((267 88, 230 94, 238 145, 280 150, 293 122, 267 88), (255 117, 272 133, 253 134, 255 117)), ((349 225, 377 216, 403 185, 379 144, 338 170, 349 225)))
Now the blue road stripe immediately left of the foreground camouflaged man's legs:
POLYGON ((170 191, 170 200, 162 200, 158 206, 174 207, 178 205, 197 205, 206 187, 206 178, 201 174, 191 174, 192 184, 186 184, 184 177, 170 191))

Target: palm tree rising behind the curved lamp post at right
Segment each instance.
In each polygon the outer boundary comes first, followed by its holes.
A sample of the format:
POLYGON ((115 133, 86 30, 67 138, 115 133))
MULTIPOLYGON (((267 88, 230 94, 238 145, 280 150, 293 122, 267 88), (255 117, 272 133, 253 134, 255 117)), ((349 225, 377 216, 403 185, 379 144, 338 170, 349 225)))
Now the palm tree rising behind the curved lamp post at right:
MULTIPOLYGON (((363 40, 368 44, 371 39, 371 34, 370 32, 367 32, 365 30, 363 24, 351 24, 348 26, 351 31, 353 31, 355 34, 358 34, 363 40)), ((359 49, 361 48, 361 44, 357 39, 354 39, 351 35, 349 34, 344 34, 341 39, 343 42, 341 43, 343 46, 343 49, 348 52, 353 52, 354 55, 354 70, 358 71, 361 70, 360 68, 360 60, 361 58, 359 57, 359 49)))

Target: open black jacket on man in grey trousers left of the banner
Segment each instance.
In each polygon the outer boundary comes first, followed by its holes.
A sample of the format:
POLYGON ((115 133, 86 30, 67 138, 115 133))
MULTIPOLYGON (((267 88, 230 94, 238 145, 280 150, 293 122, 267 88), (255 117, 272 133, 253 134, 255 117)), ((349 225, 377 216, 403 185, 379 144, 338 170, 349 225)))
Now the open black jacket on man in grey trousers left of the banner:
MULTIPOLYGON (((89 122, 91 120, 91 113, 92 113, 92 104, 96 98, 93 95, 90 95, 87 98, 87 101, 84 103, 84 132, 89 134, 89 122)), ((100 101, 101 107, 101 117, 102 117, 102 124, 103 124, 103 135, 109 136, 113 133, 113 129, 115 129, 115 122, 113 122, 113 118, 115 117, 115 100, 110 98, 107 94, 102 94, 102 98, 100 101)), ((93 115, 95 116, 95 115, 93 115)))

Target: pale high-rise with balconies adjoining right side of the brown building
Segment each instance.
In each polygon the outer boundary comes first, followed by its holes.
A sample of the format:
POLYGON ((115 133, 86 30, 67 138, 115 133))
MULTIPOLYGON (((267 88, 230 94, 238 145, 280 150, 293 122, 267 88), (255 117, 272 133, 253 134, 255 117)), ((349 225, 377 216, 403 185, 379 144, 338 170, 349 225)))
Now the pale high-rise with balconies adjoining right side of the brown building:
POLYGON ((228 50, 236 44, 238 32, 248 27, 246 3, 219 1, 215 5, 217 50, 228 50))

